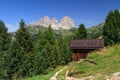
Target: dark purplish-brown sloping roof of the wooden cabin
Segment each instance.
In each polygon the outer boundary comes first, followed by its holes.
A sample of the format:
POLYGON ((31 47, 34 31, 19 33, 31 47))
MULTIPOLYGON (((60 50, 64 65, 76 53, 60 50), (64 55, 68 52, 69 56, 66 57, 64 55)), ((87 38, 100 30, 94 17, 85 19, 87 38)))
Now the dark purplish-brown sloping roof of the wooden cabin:
POLYGON ((104 39, 73 40, 71 49, 99 49, 104 47, 104 39))

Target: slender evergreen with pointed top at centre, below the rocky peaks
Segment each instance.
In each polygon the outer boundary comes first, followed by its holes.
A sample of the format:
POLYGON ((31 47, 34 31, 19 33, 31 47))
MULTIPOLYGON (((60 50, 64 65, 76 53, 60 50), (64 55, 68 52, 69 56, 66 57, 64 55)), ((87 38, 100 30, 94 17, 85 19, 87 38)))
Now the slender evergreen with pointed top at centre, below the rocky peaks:
POLYGON ((49 55, 49 59, 50 59, 50 62, 51 62, 51 66, 52 67, 56 67, 56 59, 55 59, 55 56, 56 56, 56 52, 55 52, 55 49, 54 49, 54 45, 55 45, 55 34, 51 28, 51 26, 48 27, 48 29, 45 31, 44 33, 44 37, 46 38, 46 45, 45 45, 45 49, 47 50, 47 53, 49 55))

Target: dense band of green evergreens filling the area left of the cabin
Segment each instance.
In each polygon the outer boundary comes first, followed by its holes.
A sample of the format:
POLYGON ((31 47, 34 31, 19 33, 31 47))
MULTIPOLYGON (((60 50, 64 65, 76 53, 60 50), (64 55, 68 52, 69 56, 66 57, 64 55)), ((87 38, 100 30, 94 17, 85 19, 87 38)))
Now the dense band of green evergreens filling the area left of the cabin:
POLYGON ((0 79, 11 80, 47 74, 49 68, 66 65, 72 60, 69 40, 56 36, 52 28, 39 32, 37 40, 20 21, 14 37, 0 21, 0 79))

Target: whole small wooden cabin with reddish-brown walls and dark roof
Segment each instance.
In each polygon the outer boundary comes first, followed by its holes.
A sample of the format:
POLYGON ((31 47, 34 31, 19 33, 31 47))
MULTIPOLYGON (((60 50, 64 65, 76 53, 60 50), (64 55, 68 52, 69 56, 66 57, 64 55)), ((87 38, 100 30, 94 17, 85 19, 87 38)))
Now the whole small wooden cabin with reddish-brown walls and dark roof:
POLYGON ((73 61, 85 59, 89 52, 104 47, 104 39, 73 40, 70 43, 73 61))

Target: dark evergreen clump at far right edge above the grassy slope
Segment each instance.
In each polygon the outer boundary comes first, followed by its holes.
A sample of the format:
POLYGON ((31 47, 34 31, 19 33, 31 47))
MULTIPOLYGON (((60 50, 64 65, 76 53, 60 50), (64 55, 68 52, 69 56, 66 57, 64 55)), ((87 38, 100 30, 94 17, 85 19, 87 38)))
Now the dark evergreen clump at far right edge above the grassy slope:
POLYGON ((120 39, 120 13, 118 10, 110 11, 105 19, 103 38, 105 45, 116 44, 120 39))

